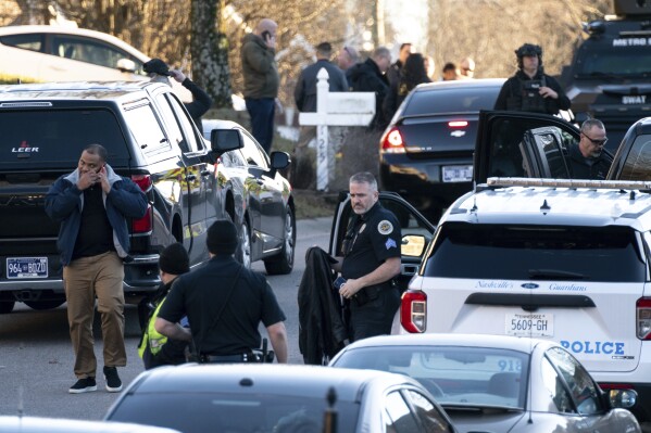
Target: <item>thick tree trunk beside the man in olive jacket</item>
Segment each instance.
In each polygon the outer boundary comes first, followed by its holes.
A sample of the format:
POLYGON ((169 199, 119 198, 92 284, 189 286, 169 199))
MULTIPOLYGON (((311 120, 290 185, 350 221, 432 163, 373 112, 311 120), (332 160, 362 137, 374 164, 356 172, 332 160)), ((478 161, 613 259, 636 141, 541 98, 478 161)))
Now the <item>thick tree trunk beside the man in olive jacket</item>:
POLYGON ((231 107, 228 39, 222 29, 223 7, 223 0, 191 0, 192 80, 210 94, 213 106, 231 107))

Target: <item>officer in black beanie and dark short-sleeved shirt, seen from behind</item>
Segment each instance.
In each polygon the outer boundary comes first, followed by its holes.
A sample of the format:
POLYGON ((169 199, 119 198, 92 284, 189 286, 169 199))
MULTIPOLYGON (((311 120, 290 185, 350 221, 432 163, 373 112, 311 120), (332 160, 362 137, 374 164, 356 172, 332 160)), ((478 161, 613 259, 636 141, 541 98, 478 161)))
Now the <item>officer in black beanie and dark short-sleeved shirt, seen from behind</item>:
POLYGON ((190 341, 201 362, 260 361, 260 322, 266 327, 278 362, 287 362, 285 314, 266 279, 239 264, 233 254, 237 230, 228 220, 208 229, 210 260, 178 277, 159 310, 155 330, 190 341), (177 323, 188 317, 191 330, 177 323))

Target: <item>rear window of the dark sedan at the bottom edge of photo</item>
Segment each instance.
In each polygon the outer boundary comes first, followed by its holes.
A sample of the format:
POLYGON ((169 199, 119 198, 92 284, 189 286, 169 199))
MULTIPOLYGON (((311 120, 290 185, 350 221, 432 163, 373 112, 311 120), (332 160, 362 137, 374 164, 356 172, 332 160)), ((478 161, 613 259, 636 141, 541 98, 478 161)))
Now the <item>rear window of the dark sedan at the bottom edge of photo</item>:
MULTIPOLYGON (((154 424, 184 433, 321 433, 325 398, 275 394, 130 394, 111 421, 154 424)), ((359 406, 337 402, 337 431, 356 429, 359 406)))

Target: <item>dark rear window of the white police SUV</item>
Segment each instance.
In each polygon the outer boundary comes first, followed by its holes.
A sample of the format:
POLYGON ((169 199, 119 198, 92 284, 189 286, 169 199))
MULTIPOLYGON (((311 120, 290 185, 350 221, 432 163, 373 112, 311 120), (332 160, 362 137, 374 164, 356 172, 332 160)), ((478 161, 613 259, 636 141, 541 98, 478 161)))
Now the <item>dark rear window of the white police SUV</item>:
POLYGON ((646 264, 627 227, 441 226, 424 275, 438 278, 641 282, 646 264))

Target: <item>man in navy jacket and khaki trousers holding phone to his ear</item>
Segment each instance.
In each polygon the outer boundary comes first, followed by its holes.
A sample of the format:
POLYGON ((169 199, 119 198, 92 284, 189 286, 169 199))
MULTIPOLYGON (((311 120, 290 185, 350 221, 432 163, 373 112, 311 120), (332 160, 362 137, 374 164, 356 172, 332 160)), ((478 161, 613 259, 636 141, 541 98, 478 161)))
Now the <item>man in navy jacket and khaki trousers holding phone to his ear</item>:
POLYGON ((126 366, 123 259, 129 250, 127 218, 142 218, 148 203, 140 187, 113 171, 107 156, 102 145, 88 145, 77 169, 57 179, 46 195, 46 213, 61 224, 57 247, 78 379, 71 394, 97 390, 92 347, 96 296, 102 316, 107 391, 122 390, 115 367, 126 366))

